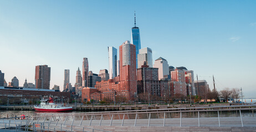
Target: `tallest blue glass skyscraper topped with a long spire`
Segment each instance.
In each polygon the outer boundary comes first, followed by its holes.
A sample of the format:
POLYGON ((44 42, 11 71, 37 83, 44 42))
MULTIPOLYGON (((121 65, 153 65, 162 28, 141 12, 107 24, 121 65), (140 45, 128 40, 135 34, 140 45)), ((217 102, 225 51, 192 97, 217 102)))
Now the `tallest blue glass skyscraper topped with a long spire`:
POLYGON ((136 68, 137 68, 137 54, 139 54, 139 50, 141 49, 140 44, 140 29, 136 26, 136 15, 134 13, 134 27, 131 29, 131 43, 136 46, 136 68))

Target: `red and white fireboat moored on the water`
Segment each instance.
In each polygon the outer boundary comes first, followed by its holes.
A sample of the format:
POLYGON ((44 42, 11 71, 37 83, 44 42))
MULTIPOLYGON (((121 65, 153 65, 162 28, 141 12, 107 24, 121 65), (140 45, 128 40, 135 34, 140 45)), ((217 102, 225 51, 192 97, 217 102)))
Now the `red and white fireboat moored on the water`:
POLYGON ((45 112, 62 112, 62 111, 72 111, 73 107, 65 107, 63 104, 57 104, 53 102, 53 98, 44 99, 40 101, 39 106, 34 106, 35 111, 45 111, 45 112))

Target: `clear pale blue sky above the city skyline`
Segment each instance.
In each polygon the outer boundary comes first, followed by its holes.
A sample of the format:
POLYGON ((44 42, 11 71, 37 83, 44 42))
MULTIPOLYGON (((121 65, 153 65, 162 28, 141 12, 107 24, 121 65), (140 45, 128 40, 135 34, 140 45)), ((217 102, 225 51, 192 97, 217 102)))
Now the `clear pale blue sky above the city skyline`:
POLYGON ((256 97, 256 1, 0 1, 0 70, 23 86, 35 65, 52 68, 50 88, 74 86, 83 57, 89 70, 108 69, 107 46, 119 49, 140 27, 153 60, 186 67, 217 90, 243 87, 256 97))

